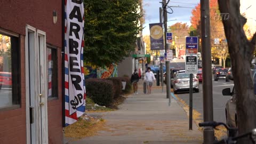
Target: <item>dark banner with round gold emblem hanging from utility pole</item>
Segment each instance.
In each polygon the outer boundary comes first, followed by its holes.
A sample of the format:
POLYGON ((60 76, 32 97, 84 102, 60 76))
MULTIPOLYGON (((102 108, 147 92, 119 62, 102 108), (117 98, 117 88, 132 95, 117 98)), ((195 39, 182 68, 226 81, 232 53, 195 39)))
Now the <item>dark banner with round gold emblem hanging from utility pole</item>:
POLYGON ((150 50, 164 50, 163 23, 150 23, 150 50))

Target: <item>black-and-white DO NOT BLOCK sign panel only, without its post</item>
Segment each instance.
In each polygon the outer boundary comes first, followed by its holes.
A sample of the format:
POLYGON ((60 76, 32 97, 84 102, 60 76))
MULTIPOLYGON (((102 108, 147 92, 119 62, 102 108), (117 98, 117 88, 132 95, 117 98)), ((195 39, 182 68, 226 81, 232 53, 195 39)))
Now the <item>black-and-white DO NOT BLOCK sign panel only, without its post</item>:
POLYGON ((197 55, 186 55, 186 73, 197 74, 197 55))

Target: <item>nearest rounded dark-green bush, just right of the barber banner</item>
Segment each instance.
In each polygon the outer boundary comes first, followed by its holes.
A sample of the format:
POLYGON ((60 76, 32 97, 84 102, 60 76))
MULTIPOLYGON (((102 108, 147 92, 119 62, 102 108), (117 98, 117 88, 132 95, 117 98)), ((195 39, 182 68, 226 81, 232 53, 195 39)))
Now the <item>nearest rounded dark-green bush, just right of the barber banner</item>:
POLYGON ((110 106, 114 99, 114 84, 108 79, 86 79, 85 88, 87 97, 100 106, 110 106))

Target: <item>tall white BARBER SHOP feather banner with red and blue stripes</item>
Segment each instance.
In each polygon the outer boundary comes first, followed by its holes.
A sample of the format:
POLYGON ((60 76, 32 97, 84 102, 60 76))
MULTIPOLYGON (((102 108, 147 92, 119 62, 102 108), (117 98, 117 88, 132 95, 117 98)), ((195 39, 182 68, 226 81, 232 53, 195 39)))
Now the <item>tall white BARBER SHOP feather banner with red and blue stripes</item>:
POLYGON ((83 68, 84 4, 67 0, 65 4, 65 125, 78 120, 85 111, 83 68))

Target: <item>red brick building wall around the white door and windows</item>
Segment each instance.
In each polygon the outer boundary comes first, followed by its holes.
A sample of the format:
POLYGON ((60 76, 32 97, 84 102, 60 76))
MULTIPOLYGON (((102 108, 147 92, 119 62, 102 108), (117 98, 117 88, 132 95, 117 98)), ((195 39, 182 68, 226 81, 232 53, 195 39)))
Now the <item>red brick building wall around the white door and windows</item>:
MULTIPOLYGON (((0 111, 0 144, 26 143, 26 25, 46 32, 46 43, 61 47, 61 1, 0 1, 0 28, 20 34, 21 107, 0 111), (53 11, 58 21, 53 24, 53 11)), ((58 49, 58 74, 61 74, 61 48, 58 49)), ((61 75, 58 75, 59 99, 48 101, 49 143, 62 143, 61 75)))

